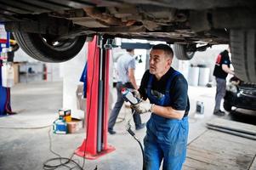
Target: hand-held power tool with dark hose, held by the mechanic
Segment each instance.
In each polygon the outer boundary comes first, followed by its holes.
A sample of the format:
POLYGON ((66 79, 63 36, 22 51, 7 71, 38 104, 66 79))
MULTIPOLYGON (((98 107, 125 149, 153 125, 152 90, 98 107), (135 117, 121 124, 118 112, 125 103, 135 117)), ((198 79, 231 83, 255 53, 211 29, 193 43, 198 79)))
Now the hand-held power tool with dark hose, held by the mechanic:
MULTIPOLYGON (((135 97, 135 95, 131 92, 131 90, 129 88, 122 88, 122 98, 125 101, 128 101, 131 105, 139 104, 142 101, 142 99, 139 99, 139 98, 135 97)), ((133 111, 131 118, 127 122, 126 130, 139 143, 139 147, 140 147, 140 150, 142 152, 142 158, 143 158, 143 167, 142 167, 142 169, 145 170, 145 159, 144 159, 145 156, 144 156, 143 146, 140 143, 139 138, 135 135, 134 131, 132 131, 132 129, 131 129, 132 126, 131 126, 130 122, 131 122, 132 117, 134 116, 134 112, 135 111, 133 111)))

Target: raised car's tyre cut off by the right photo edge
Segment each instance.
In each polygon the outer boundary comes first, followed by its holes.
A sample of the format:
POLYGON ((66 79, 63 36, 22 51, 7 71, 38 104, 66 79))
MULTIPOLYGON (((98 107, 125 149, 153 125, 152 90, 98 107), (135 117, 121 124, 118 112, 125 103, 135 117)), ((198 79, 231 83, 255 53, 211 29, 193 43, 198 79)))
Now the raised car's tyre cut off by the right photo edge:
POLYGON ((230 45, 236 77, 256 82, 256 31, 231 30, 230 45))

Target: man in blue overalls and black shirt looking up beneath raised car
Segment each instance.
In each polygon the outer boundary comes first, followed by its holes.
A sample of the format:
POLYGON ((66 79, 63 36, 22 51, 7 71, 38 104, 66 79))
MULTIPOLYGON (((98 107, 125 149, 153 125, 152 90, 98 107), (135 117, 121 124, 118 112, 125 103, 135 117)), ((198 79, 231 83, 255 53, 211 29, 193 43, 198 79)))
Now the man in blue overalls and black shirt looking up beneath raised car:
POLYGON ((180 170, 185 162, 188 138, 188 84, 185 77, 171 67, 173 49, 157 44, 151 49, 150 69, 145 71, 139 87, 142 99, 151 105, 132 105, 138 113, 151 111, 146 123, 145 169, 180 170))

